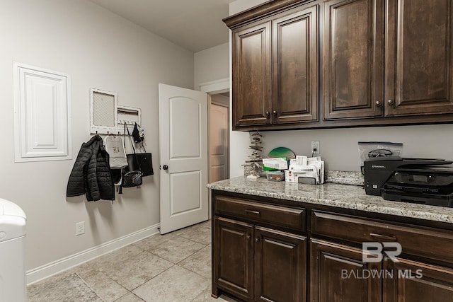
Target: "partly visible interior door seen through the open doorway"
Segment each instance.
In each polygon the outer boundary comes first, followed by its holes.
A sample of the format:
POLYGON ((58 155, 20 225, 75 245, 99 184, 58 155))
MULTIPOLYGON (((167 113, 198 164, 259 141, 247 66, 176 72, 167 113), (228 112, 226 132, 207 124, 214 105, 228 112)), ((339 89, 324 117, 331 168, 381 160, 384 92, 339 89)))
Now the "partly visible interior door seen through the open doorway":
POLYGON ((210 108, 210 182, 228 178, 228 108, 210 108))

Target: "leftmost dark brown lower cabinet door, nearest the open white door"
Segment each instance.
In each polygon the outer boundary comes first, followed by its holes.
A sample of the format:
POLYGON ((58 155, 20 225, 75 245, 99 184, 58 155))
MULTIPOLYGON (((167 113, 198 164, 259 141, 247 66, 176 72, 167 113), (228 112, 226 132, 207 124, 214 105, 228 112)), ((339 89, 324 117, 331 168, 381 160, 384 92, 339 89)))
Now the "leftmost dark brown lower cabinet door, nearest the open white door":
POLYGON ((253 226, 214 218, 214 279, 217 287, 253 298, 253 226))

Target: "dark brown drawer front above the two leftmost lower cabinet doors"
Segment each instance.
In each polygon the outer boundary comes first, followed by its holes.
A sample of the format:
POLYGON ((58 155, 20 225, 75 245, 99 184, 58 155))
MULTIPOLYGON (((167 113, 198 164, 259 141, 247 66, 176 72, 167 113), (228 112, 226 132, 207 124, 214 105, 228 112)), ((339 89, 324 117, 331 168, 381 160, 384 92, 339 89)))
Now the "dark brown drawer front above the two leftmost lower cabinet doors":
POLYGON ((216 214, 227 214, 254 222, 272 223, 297 231, 306 230, 305 209, 260 204, 258 202, 217 196, 215 198, 216 214))

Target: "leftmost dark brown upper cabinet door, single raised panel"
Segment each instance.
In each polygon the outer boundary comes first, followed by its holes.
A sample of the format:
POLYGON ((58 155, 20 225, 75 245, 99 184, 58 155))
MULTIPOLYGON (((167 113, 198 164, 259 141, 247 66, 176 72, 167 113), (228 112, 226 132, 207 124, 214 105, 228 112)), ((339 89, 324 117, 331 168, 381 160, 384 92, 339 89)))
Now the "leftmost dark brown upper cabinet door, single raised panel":
POLYGON ((234 124, 270 124, 270 21, 233 32, 234 124))

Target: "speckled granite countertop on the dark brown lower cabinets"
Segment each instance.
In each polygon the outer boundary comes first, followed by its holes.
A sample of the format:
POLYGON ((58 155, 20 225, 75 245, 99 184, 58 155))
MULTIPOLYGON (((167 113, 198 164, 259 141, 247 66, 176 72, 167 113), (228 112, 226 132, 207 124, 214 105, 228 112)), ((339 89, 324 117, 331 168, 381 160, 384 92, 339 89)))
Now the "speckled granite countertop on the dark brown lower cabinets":
POLYGON ((338 183, 304 185, 284 181, 272 182, 266 178, 249 180, 245 176, 239 176, 212 182, 207 187, 212 190, 453 223, 453 208, 411 204, 408 202, 390 202, 379 196, 365 194, 364 187, 357 185, 338 183))

